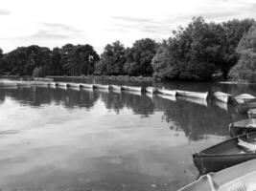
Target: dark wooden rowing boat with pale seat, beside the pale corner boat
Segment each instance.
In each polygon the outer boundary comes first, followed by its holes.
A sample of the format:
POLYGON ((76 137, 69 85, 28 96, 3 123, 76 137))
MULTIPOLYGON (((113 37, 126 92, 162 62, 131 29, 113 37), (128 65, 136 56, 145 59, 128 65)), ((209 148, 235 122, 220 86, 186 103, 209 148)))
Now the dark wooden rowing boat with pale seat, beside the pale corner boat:
MULTIPOLYGON (((219 144, 211 146, 193 155, 193 160, 199 174, 218 172, 224 168, 234 166, 249 159, 256 159, 253 149, 245 147, 241 141, 256 146, 256 133, 249 133, 235 138, 229 138, 219 144)), ((256 148, 255 148, 256 149, 256 148)))

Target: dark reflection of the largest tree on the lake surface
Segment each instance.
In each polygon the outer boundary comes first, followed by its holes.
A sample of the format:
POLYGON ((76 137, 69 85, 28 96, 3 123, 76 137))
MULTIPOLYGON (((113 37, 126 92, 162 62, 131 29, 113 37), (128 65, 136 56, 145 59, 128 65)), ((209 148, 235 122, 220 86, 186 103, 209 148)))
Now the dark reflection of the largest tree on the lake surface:
POLYGON ((217 107, 205 107, 185 100, 170 101, 158 96, 153 100, 156 108, 164 111, 166 121, 174 121, 176 129, 181 128, 191 139, 206 134, 228 135, 228 124, 237 118, 217 107))

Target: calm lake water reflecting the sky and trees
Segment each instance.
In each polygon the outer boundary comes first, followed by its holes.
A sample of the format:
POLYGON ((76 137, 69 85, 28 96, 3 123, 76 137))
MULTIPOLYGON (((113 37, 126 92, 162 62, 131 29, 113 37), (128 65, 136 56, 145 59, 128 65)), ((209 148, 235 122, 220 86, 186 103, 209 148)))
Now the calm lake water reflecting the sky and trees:
MULTIPOLYGON (((256 95, 248 85, 164 85, 256 95)), ((176 190, 198 176, 191 154, 228 138, 228 124, 242 118, 215 102, 2 88, 0 190, 176 190)))

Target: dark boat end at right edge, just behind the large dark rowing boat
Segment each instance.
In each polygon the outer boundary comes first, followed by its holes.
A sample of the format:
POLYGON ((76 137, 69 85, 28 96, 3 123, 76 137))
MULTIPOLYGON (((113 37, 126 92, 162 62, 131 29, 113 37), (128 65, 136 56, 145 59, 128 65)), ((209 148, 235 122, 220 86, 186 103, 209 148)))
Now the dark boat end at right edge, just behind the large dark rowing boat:
POLYGON ((256 132, 256 118, 249 118, 230 123, 229 132, 231 137, 256 132))

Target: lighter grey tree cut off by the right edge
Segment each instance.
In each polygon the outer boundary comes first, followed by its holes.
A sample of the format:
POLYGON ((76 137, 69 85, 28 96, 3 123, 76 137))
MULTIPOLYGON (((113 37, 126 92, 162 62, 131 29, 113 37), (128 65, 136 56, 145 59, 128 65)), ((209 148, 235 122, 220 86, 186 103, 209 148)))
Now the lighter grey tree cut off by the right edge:
POLYGON ((229 76, 234 80, 256 82, 256 26, 252 26, 241 39, 237 52, 241 57, 231 68, 229 76))

